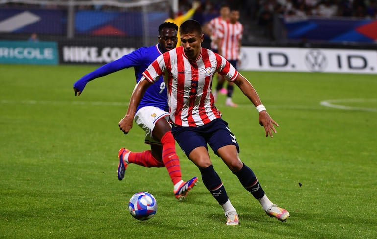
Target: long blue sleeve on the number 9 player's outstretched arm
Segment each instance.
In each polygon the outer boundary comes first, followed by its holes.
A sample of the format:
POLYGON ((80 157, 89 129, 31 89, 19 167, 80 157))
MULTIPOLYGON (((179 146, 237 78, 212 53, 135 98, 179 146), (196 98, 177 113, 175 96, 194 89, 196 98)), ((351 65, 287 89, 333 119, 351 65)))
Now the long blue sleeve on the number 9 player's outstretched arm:
POLYGON ((94 80, 96 78, 99 78, 99 77, 102 77, 102 76, 105 76, 105 75, 108 75, 108 74, 111 74, 111 73, 114 73, 114 72, 117 72, 117 71, 125 69, 125 68, 129 68, 129 67, 139 65, 139 63, 141 61, 140 56, 141 56, 141 54, 140 54, 139 49, 131 52, 128 55, 124 55, 122 58, 119 58, 118 60, 109 62, 109 63, 97 68, 93 72, 90 72, 89 74, 84 75, 81 79, 79 79, 78 81, 76 81, 73 84, 73 87, 77 88, 79 91, 82 92, 84 90, 86 84, 91 80, 94 80))

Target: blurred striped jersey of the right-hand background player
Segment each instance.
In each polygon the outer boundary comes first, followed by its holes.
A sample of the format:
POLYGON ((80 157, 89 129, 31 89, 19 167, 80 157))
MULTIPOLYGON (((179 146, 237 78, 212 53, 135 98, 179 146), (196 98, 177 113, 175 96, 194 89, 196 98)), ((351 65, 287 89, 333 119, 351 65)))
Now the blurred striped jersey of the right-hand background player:
POLYGON ((239 41, 242 39, 243 25, 240 22, 226 22, 219 25, 217 38, 221 39, 222 56, 227 60, 238 60, 239 41))

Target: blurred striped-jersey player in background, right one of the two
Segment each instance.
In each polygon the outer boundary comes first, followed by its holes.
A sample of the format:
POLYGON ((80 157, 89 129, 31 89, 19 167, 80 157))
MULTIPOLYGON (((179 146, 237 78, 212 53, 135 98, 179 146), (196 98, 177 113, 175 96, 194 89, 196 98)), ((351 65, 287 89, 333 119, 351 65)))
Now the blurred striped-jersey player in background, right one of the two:
MULTIPOLYGON (((218 53, 225 57, 225 59, 227 59, 236 69, 239 60, 243 34, 243 25, 238 22, 238 19, 239 11, 237 9, 232 9, 229 15, 229 21, 222 22, 222 24, 219 25, 217 31, 218 53)), ((216 86, 216 93, 223 88, 224 82, 224 78, 219 79, 216 86)), ((236 107, 237 105, 232 101, 233 89, 233 82, 228 82, 228 92, 225 105, 236 107)))

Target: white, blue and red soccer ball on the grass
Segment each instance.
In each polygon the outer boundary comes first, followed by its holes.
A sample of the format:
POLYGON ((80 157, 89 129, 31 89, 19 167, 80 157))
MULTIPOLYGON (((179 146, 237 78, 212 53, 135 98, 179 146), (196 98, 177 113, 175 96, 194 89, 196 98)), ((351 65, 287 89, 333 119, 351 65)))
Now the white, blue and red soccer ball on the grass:
POLYGON ((141 191, 130 198, 128 210, 135 219, 145 221, 156 214, 157 201, 152 194, 141 191))

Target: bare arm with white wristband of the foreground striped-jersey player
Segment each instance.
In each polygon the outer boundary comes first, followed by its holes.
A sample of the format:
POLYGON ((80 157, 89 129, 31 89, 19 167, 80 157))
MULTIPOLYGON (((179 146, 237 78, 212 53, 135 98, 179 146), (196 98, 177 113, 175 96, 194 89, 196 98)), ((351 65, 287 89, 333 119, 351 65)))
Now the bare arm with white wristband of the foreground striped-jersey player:
POLYGON ((254 87, 241 74, 238 75, 234 82, 239 87, 239 89, 241 89, 243 94, 245 94, 245 96, 250 99, 254 106, 256 106, 259 112, 259 124, 264 127, 264 130, 266 131, 266 137, 268 137, 268 135, 270 135, 271 138, 274 137, 272 135, 272 132, 277 133, 274 125, 279 126, 279 124, 275 122, 267 113, 267 110, 263 106, 262 101, 260 100, 254 87))

